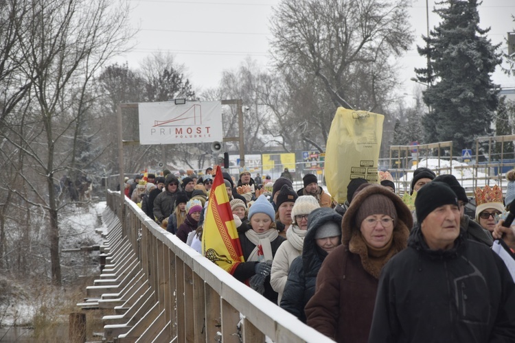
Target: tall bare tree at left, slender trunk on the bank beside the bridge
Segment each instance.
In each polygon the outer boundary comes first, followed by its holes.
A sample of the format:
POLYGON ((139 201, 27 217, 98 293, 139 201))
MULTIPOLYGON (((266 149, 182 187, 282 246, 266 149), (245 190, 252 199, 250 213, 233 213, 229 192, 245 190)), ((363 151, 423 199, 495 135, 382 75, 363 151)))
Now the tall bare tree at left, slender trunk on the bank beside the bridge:
POLYGON ((30 2, 29 9, 30 16, 19 23, 25 35, 17 36, 16 44, 23 76, 31 84, 27 95, 34 99, 27 107, 25 126, 30 130, 21 132, 19 126, 6 123, 9 134, 3 138, 23 151, 31 169, 18 175, 32 196, 12 191, 47 213, 52 280, 60 284, 58 212, 65 204, 58 198, 58 175, 76 170, 80 130, 96 93, 93 77, 109 58, 124 51, 131 35, 128 5, 44 0, 30 2))

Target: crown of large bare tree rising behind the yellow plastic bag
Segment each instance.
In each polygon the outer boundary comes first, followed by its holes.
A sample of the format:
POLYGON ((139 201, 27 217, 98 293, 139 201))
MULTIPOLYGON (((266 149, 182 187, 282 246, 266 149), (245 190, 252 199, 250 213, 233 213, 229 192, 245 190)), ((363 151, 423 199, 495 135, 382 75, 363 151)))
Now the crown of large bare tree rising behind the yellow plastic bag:
POLYGON ((315 76, 334 106, 378 108, 395 82, 385 73, 389 58, 413 40, 408 6, 403 0, 284 0, 271 19, 277 67, 315 76))

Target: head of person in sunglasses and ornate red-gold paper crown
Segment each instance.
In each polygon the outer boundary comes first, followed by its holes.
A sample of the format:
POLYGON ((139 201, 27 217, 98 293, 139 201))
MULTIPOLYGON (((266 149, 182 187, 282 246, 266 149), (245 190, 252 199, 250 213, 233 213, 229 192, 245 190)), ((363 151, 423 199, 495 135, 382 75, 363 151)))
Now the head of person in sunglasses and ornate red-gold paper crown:
POLYGON ((495 224, 499 221, 499 215, 504 211, 503 191, 495 185, 488 185, 474 191, 476 197, 476 222, 490 233, 494 232, 495 224))

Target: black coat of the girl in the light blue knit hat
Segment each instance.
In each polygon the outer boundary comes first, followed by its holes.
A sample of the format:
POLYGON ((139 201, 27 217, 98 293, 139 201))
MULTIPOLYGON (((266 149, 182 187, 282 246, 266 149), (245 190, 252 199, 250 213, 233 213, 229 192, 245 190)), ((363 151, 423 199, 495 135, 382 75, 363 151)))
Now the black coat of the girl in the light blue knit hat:
MULTIPOLYGON (((251 241, 249 241, 249 239, 245 235, 245 232, 247 230, 252 230, 250 224, 247 224, 247 223, 243 223, 238 228, 238 235, 240 236, 240 244, 242 246, 242 252, 243 252, 243 257, 244 257, 245 261, 247 261, 247 259, 251 255, 251 252, 255 248, 255 245, 251 241)), ((274 229, 271 229, 271 230, 274 230, 274 229)), ((277 249, 284 241, 286 241, 286 239, 281 236, 277 236, 276 239, 271 241, 270 245, 272 248, 272 256, 275 257, 275 252, 277 252, 277 249)), ((255 270, 254 270, 255 263, 258 263, 258 262, 250 261, 250 262, 239 263, 238 266, 236 267, 236 270, 234 270, 233 276, 241 282, 247 281, 247 279, 251 278, 251 276, 253 276, 255 274, 255 270)), ((266 280, 264 281, 263 296, 265 298, 267 298, 268 300, 270 300, 272 303, 277 304, 278 294, 277 294, 277 292, 275 292, 273 290, 272 286, 270 285, 270 275, 266 276, 266 280)))

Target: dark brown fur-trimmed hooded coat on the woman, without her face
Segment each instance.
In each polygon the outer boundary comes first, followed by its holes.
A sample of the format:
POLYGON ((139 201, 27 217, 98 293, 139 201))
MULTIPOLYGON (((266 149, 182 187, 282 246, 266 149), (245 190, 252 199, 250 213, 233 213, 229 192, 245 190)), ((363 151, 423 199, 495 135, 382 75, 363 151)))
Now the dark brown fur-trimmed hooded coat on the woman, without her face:
POLYGON ((413 218, 408 207, 394 193, 380 185, 369 185, 357 193, 343 215, 342 245, 322 263, 314 296, 306 305, 310 327, 336 342, 366 343, 368 340, 380 267, 371 261, 361 237, 356 213, 372 194, 387 196, 396 208, 391 248, 382 257, 385 263, 393 254, 406 248, 413 218))

